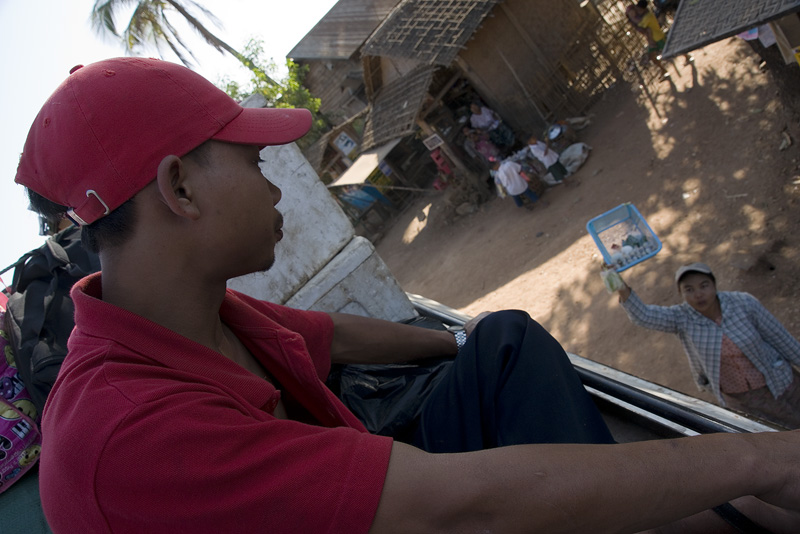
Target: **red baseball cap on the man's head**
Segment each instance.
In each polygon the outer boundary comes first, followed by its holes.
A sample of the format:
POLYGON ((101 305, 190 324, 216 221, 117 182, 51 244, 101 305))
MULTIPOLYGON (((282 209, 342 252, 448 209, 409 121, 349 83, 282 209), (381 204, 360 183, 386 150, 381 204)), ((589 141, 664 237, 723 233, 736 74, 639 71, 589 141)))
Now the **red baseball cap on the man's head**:
POLYGON ((243 108, 181 65, 108 59, 73 69, 45 102, 15 181, 91 224, 153 181, 166 156, 209 139, 283 145, 310 128, 306 109, 243 108))

